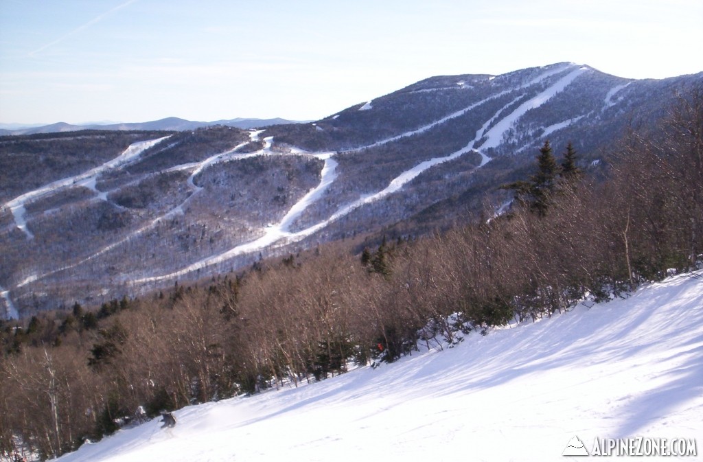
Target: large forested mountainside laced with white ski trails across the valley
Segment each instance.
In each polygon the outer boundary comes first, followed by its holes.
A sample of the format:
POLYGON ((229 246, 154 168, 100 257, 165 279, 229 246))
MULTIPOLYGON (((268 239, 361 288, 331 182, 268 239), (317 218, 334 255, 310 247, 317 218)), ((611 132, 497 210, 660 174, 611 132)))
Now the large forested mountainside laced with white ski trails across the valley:
POLYGON ((509 203, 501 184, 528 178, 546 140, 557 158, 572 141, 579 167, 600 174, 612 143, 656 132, 699 86, 703 72, 636 80, 557 63, 430 77, 316 122, 6 137, 0 315, 138 295, 319 243, 359 250, 446 229, 509 203))

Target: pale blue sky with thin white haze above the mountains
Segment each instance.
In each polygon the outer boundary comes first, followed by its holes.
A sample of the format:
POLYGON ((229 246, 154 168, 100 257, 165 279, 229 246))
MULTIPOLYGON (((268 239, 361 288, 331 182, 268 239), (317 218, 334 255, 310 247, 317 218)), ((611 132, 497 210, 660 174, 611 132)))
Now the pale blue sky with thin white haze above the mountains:
POLYGON ((0 123, 313 120, 433 75, 703 71, 703 0, 0 0, 0 123))

